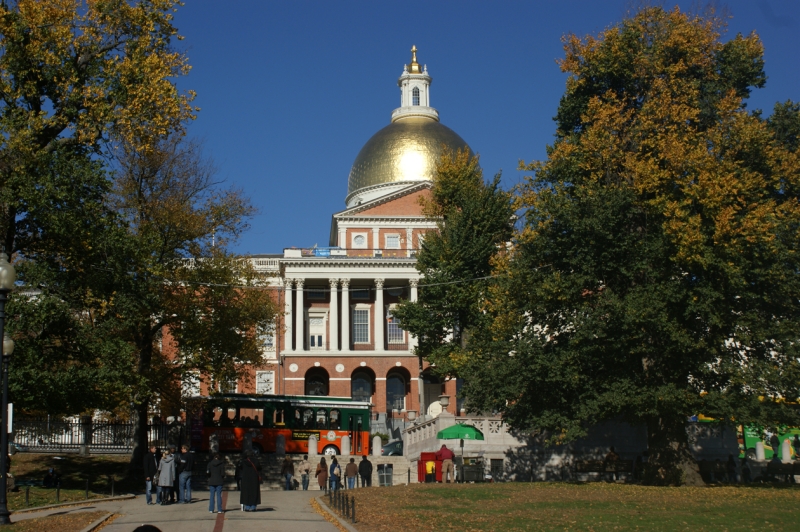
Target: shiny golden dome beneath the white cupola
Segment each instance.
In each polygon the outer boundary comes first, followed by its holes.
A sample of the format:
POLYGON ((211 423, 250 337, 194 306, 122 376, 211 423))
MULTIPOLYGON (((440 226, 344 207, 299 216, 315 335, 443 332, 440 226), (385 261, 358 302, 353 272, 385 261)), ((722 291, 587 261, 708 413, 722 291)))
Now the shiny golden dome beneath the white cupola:
POLYGON ((389 124, 358 152, 350 170, 348 197, 373 185, 433 179, 442 146, 469 150, 455 131, 430 118, 409 117, 389 124))

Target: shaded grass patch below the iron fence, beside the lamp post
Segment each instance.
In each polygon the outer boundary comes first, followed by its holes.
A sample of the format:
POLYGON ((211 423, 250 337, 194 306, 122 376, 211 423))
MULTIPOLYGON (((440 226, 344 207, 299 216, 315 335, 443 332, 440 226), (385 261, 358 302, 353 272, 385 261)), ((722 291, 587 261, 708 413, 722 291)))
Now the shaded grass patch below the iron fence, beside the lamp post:
MULTIPOLYGON (((92 455, 77 454, 30 454, 17 453, 11 458, 11 474, 19 482, 21 480, 41 481, 51 467, 61 475, 61 494, 59 502, 79 501, 86 498, 86 479, 89 479, 89 497, 107 497, 111 494, 110 481, 114 479, 116 495, 130 493, 142 489, 140 482, 126 479, 129 455, 92 455)), ((56 503, 56 490, 32 486, 30 488, 30 505, 44 506, 56 503)), ((19 491, 9 492, 9 509, 26 508, 25 487, 19 491)))

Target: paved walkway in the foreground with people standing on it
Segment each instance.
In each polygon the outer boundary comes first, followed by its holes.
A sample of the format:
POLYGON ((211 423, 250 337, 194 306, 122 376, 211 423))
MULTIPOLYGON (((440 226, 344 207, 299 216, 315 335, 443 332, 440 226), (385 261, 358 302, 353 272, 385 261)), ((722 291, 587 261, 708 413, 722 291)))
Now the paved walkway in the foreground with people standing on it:
POLYGON ((311 507, 309 500, 321 495, 319 491, 262 491, 262 504, 256 512, 239 510, 239 492, 225 491, 224 514, 208 512, 208 492, 193 492, 192 504, 147 506, 144 496, 126 501, 104 502, 85 507, 58 508, 45 512, 30 512, 11 516, 12 521, 41 517, 53 513, 103 510, 122 514, 103 532, 132 532, 142 524, 155 525, 163 532, 250 532, 285 530, 287 532, 337 532, 311 507))

